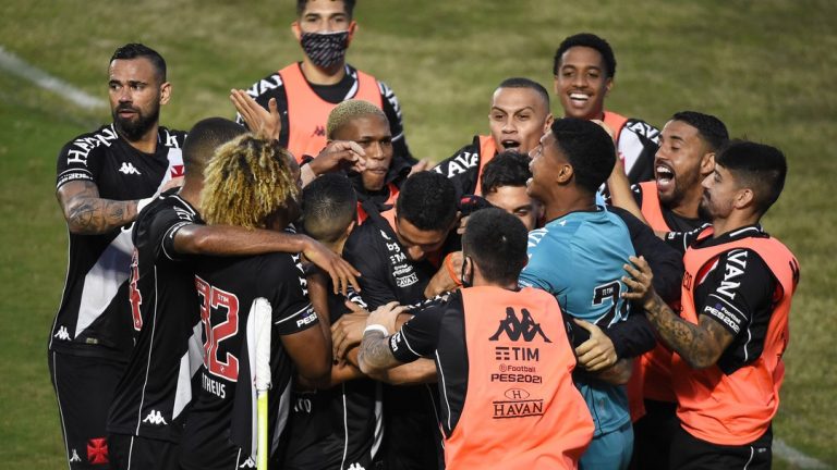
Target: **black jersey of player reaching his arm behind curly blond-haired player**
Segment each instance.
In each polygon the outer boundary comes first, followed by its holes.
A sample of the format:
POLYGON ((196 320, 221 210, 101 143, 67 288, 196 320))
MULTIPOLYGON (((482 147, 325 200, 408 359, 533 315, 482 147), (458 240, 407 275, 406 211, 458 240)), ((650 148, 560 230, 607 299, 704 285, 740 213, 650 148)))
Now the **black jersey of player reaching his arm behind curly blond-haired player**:
POLYGON ((174 251, 173 239, 181 227, 199 223, 197 211, 172 190, 134 225, 129 300, 137 339, 110 408, 111 433, 180 442, 190 381, 202 361, 194 337, 201 316, 192 264, 174 251))

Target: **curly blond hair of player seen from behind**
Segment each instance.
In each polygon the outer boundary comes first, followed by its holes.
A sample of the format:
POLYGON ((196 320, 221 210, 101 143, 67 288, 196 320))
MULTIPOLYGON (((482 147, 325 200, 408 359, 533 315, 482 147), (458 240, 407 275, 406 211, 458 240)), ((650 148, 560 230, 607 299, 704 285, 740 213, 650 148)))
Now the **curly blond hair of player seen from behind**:
POLYGON ((293 157, 276 140, 244 134, 218 148, 204 172, 201 206, 209 224, 264 228, 269 215, 299 201, 293 157))

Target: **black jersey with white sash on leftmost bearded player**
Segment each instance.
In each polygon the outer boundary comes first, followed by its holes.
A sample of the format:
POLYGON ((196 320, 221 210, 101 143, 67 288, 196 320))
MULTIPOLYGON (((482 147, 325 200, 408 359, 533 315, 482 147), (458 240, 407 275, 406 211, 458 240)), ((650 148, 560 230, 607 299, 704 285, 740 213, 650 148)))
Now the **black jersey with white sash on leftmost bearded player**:
MULTIPOLYGON (((56 187, 88 181, 105 199, 150 197, 172 174, 182 175, 184 138, 185 133, 160 127, 156 152, 143 153, 108 124, 61 149, 56 187)), ((70 262, 50 350, 128 359, 133 347, 128 302, 132 226, 99 235, 69 235, 70 262)))

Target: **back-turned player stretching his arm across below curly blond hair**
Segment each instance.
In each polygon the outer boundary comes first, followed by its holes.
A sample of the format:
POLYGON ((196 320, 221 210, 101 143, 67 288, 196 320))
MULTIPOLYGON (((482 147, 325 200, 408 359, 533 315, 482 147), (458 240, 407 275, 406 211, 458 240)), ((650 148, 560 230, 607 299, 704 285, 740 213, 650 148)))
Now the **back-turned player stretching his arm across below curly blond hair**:
MULTIPOLYGON (((194 255, 295 252, 307 238, 203 225, 204 169, 216 148, 244 132, 220 118, 195 124, 183 146, 183 187, 149 203, 137 219, 129 282, 137 339, 108 416, 114 468, 179 468, 178 444, 192 397, 190 378, 202 362, 199 342, 193 345, 197 347, 191 349, 192 356, 187 354, 193 329, 201 321, 194 255)), ((304 251, 311 255, 316 249, 304 251)), ((313 258, 320 259, 316 253, 313 258)))

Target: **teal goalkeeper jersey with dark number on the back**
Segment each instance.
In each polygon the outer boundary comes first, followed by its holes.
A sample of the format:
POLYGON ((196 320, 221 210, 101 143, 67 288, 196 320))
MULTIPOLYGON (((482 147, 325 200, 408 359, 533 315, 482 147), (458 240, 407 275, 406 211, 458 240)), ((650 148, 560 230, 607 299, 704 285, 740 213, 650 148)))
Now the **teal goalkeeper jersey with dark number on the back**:
MULTIPOLYGON (((521 286, 547 290, 562 311, 603 330, 628 318, 629 302, 620 295, 628 290, 622 265, 634 251, 618 215, 602 207, 570 212, 530 232, 527 252, 521 286)), ((623 386, 585 380, 575 385, 593 416, 595 436, 630 421, 623 386)))

